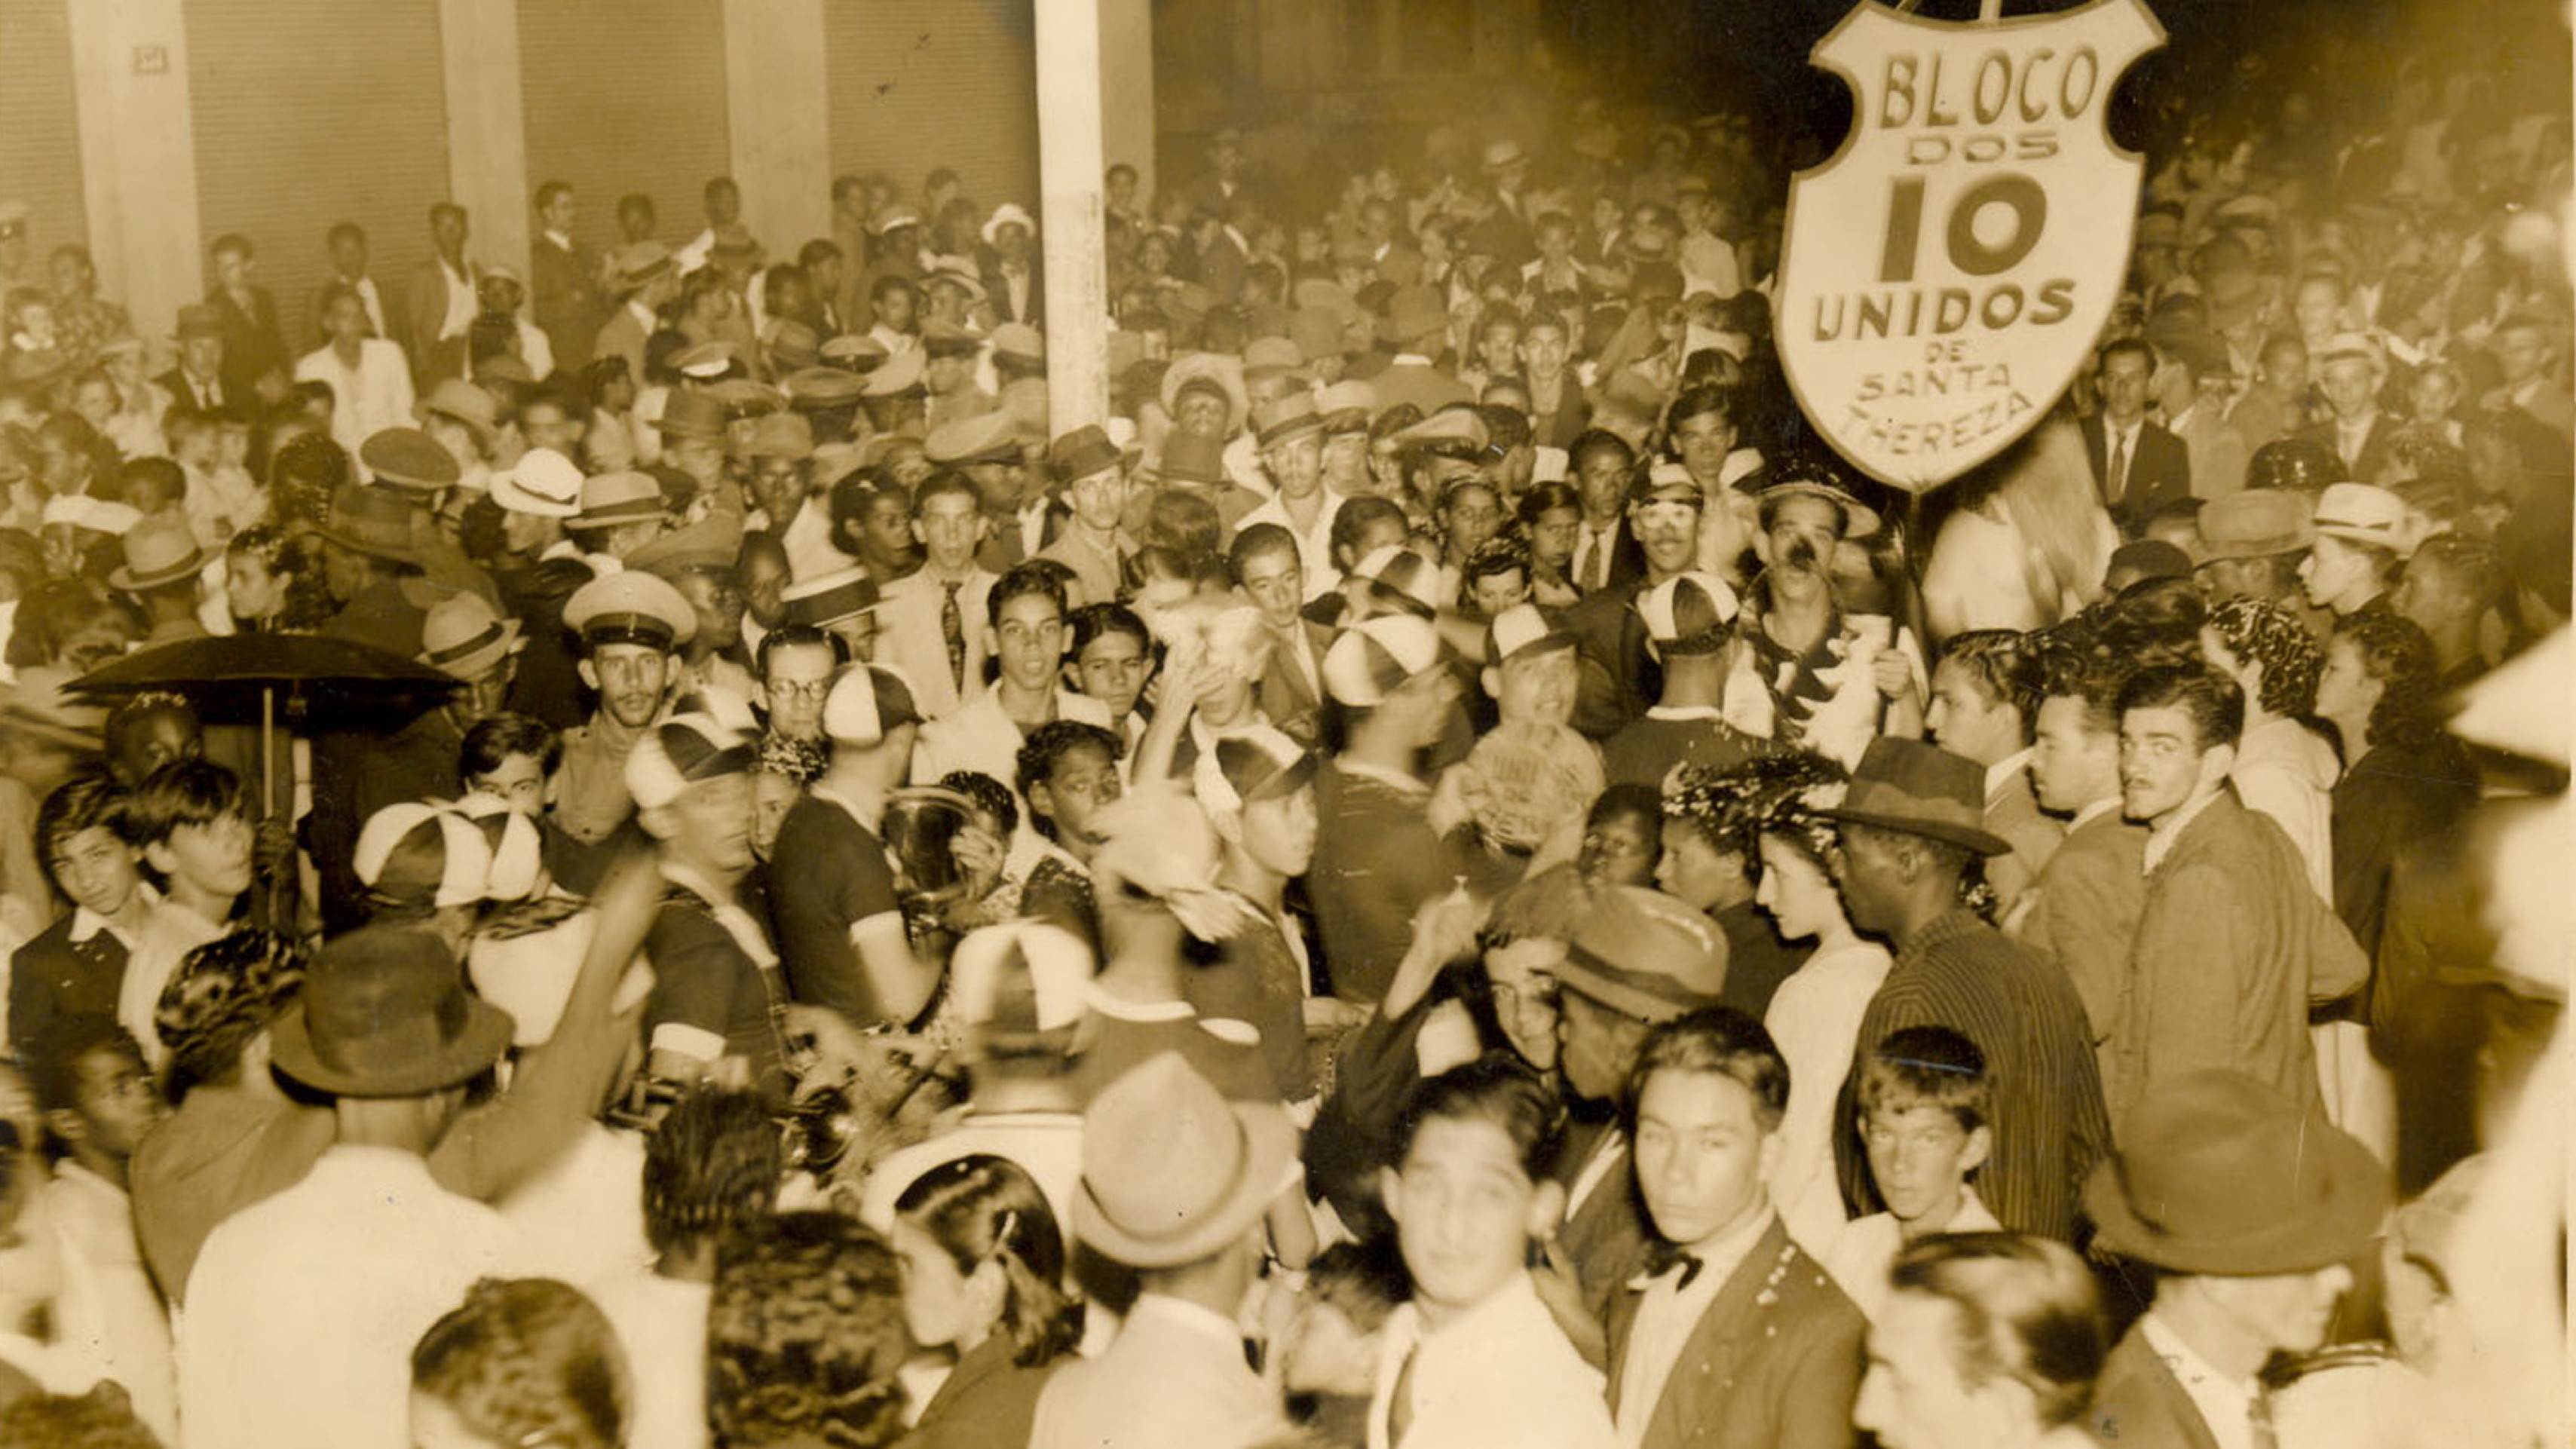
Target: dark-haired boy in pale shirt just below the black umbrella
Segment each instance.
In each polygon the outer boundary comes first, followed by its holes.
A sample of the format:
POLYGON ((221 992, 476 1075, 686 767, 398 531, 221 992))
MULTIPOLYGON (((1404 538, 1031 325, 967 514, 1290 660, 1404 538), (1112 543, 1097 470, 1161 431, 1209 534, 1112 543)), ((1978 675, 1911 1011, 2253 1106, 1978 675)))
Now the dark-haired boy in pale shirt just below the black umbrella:
POLYGON ((152 1013, 180 959, 229 931, 250 890, 252 838, 242 779, 211 761, 170 761, 134 792, 131 838, 162 877, 162 902, 116 993, 116 1021, 160 1070, 167 1057, 152 1013))

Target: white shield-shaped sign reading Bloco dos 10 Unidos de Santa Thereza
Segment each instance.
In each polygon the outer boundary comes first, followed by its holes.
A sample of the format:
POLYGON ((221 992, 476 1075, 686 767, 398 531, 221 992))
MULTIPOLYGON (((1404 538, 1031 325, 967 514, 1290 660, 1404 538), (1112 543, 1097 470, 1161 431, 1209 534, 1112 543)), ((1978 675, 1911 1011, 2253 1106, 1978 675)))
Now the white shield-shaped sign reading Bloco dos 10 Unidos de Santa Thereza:
POLYGON ((1790 183, 1772 325, 1798 405, 1862 472, 1942 485, 2074 379, 2120 297, 2143 173, 2105 111, 2161 44, 2143 0, 1996 23, 1862 0, 1816 44, 1852 131, 1790 183))

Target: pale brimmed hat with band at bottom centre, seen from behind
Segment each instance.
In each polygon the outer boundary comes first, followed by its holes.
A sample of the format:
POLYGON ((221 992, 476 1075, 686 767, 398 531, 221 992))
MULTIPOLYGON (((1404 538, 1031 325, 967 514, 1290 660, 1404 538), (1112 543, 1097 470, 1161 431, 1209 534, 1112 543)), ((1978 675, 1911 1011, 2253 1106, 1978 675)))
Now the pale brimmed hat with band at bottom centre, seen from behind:
POLYGON ((1131 1269, 1180 1269, 1249 1235, 1296 1168, 1296 1122, 1226 1101, 1180 1052, 1113 1080, 1082 1114, 1074 1235, 1131 1269))

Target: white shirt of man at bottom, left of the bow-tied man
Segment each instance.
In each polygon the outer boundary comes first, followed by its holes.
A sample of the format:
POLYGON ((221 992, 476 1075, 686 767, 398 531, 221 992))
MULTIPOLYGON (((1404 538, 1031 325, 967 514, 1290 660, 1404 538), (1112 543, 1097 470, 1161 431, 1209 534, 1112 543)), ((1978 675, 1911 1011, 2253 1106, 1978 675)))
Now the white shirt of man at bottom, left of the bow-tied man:
POLYGON ((1440 1328, 1401 1305, 1378 1338, 1378 1390, 1368 1403, 1368 1449, 1394 1449, 1388 1428, 1404 1382, 1414 1449, 1610 1449, 1602 1374, 1584 1364, 1548 1318, 1530 1274, 1440 1328), (1406 1374, 1406 1359, 1412 1372, 1406 1374))

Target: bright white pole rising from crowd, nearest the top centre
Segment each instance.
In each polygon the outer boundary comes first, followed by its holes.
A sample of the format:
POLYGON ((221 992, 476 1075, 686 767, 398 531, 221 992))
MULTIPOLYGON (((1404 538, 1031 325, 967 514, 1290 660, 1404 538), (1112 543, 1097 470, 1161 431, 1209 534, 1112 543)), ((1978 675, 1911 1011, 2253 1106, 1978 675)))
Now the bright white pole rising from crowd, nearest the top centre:
POLYGON ((1100 10, 1100 0, 1038 5, 1038 178, 1046 191, 1038 229, 1046 237, 1046 410, 1054 433, 1110 415, 1100 10))

